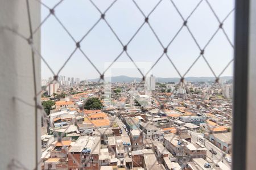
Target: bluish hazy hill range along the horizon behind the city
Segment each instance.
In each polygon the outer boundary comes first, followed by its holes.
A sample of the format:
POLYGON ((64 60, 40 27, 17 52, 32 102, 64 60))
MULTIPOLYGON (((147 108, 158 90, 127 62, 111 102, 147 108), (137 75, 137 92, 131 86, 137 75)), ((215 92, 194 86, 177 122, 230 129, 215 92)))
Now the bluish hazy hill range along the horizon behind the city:
MULTIPOLYGON (((226 80, 232 80, 233 77, 232 76, 222 76, 221 78, 226 79, 226 80)), ((113 83, 117 83, 117 82, 133 82, 134 80, 136 80, 137 82, 141 82, 141 78, 136 78, 136 77, 130 77, 130 76, 125 76, 125 75, 121 75, 121 76, 112 76, 112 77, 106 77, 105 80, 107 80, 108 82, 113 82, 113 83)), ((168 82, 179 82, 180 78, 160 78, 160 77, 156 77, 155 81, 159 82, 159 83, 168 83, 168 82)), ((214 77, 194 77, 194 76, 189 76, 186 77, 185 80, 187 80, 188 82, 209 82, 209 81, 214 81, 215 78, 214 77)), ((90 82, 98 82, 98 78, 97 79, 89 79, 90 82)))

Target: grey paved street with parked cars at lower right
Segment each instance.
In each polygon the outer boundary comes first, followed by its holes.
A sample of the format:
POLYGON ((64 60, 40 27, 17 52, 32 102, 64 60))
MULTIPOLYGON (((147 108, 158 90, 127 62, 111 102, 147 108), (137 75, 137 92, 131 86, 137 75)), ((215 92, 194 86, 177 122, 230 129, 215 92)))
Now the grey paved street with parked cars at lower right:
MULTIPOLYGON (((196 146, 197 145, 196 144, 197 137, 198 137, 198 135, 201 135, 201 133, 195 133, 193 131, 192 132, 189 131, 188 134, 189 135, 191 134, 191 142, 193 144, 195 144, 195 146, 196 146)), ((222 155, 223 155, 224 152, 222 150, 220 150, 220 148, 213 145, 213 143, 209 142, 208 140, 205 141, 204 145, 205 145, 205 148, 207 148, 207 157, 210 160, 212 160, 214 163, 222 162, 222 155), (209 151, 211 148, 213 148, 213 150, 217 152, 216 155, 212 154, 209 151)), ((223 158, 223 163, 224 163, 225 169, 231 169, 231 164, 228 163, 225 158, 223 158)), ((224 169, 224 168, 222 168, 222 169, 224 169)))

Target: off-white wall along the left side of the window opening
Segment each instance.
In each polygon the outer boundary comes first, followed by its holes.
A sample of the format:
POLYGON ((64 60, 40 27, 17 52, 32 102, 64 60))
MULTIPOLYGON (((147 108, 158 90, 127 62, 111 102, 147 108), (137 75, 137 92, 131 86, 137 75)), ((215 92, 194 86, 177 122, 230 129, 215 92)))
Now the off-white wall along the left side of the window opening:
MULTIPOLYGON (((36 1, 29 2, 35 29, 40 23, 40 5, 36 1)), ((34 169, 39 161, 36 158, 40 158, 40 115, 37 117, 39 133, 36 134, 35 108, 15 98, 34 104, 31 48, 27 41, 3 27, 14 29, 26 37, 30 35, 25 0, 0 0, 0 169, 17 169, 13 166, 15 162, 34 169), (37 148, 36 142, 39 144, 37 148)), ((40 31, 34 38, 34 44, 40 51, 40 31)), ((37 56, 35 65, 39 91, 40 59, 37 56)))

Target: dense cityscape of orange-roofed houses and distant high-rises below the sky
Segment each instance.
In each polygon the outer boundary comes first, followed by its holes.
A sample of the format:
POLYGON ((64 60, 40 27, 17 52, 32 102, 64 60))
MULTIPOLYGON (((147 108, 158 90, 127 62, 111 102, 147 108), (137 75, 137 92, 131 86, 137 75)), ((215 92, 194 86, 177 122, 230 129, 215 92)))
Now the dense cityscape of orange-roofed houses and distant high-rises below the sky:
POLYGON ((42 169, 231 169, 232 77, 158 80, 43 79, 42 169))

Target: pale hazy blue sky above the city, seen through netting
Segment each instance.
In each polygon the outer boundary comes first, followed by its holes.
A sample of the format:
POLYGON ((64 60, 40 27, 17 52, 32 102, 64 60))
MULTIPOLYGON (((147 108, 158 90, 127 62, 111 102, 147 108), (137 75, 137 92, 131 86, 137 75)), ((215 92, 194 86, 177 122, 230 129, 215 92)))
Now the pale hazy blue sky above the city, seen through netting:
MULTIPOLYGON (((233 0, 208 0, 220 20, 234 8, 233 0)), ((57 0, 42 1, 49 7, 53 7, 57 0)), ((105 11, 113 1, 97 0, 93 1, 101 11, 105 11)), ((137 0, 138 6, 145 15, 148 15, 152 8, 159 1, 156 0, 137 0)), ((187 18, 199 0, 174 0, 181 15, 187 18)), ((42 6, 42 20, 49 14, 49 10, 42 6)), ((100 18, 101 14, 89 0, 64 0, 55 8, 57 18, 71 33, 76 41, 92 27, 100 18)), ((144 16, 131 0, 117 0, 114 5, 106 12, 105 18, 111 25, 123 44, 127 44, 137 29, 144 22, 144 16)), ((163 46, 169 42, 179 31, 183 20, 175 10, 170 0, 163 0, 155 11, 149 16, 148 22, 151 24, 163 46)), ((188 19, 187 25, 195 39, 203 48, 213 33, 218 28, 218 21, 207 2, 204 0, 197 10, 188 19)), ((225 20, 223 27, 227 36, 234 40, 234 12, 225 20)), ((57 73, 65 63, 69 55, 75 50, 75 42, 68 36, 68 33, 61 27, 57 20, 50 16, 41 27, 41 53, 46 59, 52 70, 57 73)), ((113 61, 123 50, 122 45, 114 36, 104 20, 101 20, 96 27, 81 42, 82 51, 90 58, 97 69, 103 73, 106 63, 113 61)), ((154 36, 148 24, 144 24, 138 34, 127 46, 127 53, 136 62, 155 61, 163 53, 163 48, 154 36)), ((184 75, 195 59, 199 56, 200 50, 189 34, 188 29, 183 27, 167 50, 168 56, 176 66, 181 75, 184 75)), ((219 30, 210 44, 205 48, 205 59, 209 62, 214 73, 221 73, 228 62, 233 58, 233 48, 230 46, 222 30, 219 30)), ((123 53, 117 61, 130 62, 130 58, 123 53)), ((108 65, 107 65, 108 66, 108 65)), ((42 61, 42 79, 52 76, 51 71, 42 61)), ((111 68, 110 68, 111 69, 111 68)), ((144 71, 147 72, 147 71, 144 71)), ((163 56, 151 71, 156 77, 179 77, 179 74, 172 66, 166 56, 163 56)), ((59 75, 67 77, 77 77, 82 79, 98 78, 100 75, 82 55, 79 50, 73 54, 71 59, 61 70, 59 75)), ((141 77, 141 74, 134 67, 129 69, 113 69, 113 76, 127 75, 141 77), (133 71, 131 71, 133 70, 133 71)), ((222 76, 233 75, 233 63, 224 71, 222 76)), ((202 57, 185 76, 213 76, 212 71, 202 57)))

